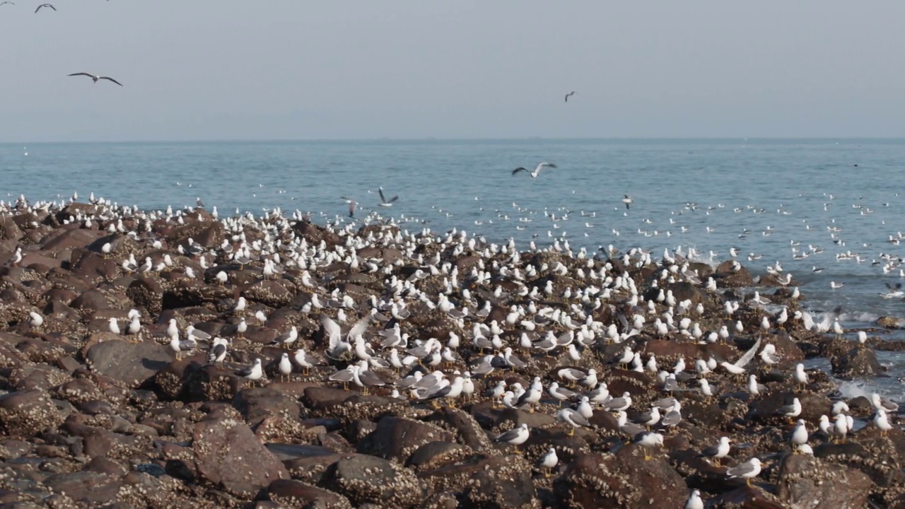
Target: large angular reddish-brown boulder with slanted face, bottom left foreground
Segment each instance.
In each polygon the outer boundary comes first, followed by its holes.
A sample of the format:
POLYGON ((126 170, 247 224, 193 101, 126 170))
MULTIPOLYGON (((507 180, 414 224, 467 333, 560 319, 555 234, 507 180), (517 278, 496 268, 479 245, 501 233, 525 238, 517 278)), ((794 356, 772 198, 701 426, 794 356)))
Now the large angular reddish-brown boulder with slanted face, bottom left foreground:
POLYGON ((289 478, 280 460, 262 446, 251 428, 232 418, 195 424, 192 449, 198 473, 233 493, 253 493, 276 479, 289 478))

